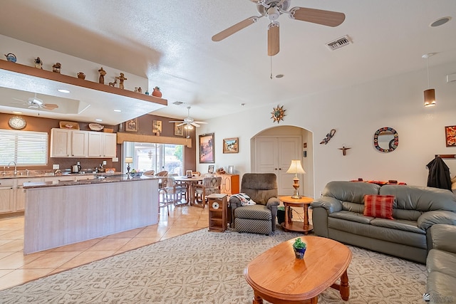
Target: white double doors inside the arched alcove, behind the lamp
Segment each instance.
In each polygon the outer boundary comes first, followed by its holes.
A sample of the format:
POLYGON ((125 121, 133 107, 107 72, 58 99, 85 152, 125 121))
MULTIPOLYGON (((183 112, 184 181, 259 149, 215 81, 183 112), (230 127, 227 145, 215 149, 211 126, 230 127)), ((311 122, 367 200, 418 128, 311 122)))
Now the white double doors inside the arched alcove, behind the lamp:
MULTIPOLYGON (((279 195, 293 194, 294 174, 286 173, 292 159, 301 159, 301 137, 257 137, 255 172, 275 173, 279 195)), ((302 175, 302 174, 300 174, 302 175)), ((299 176, 302 180, 302 177, 299 176)))

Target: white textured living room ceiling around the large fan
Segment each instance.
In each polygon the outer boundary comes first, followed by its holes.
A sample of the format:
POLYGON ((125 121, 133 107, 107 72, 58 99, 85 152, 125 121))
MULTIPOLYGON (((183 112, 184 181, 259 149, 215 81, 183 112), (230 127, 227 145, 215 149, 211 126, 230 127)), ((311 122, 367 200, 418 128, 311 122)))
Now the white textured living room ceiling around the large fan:
POLYGON ((431 70, 456 61, 455 0, 291 0, 293 6, 340 11, 346 20, 331 28, 281 15, 280 53, 272 58, 266 18, 211 40, 258 15, 249 0, 3 0, 0 34, 148 78, 150 90, 159 86, 168 100, 154 114, 183 118, 190 105, 196 120, 423 70, 425 53, 437 53, 431 70), (452 20, 430 27, 444 16, 452 20), (345 35, 353 44, 326 48, 345 35), (271 79, 271 66, 284 77, 271 79))

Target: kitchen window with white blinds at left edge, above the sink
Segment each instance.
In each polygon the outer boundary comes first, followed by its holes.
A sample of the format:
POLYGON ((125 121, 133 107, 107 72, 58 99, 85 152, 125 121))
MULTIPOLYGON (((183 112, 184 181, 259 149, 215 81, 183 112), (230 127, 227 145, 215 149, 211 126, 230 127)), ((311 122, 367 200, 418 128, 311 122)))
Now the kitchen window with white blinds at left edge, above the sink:
POLYGON ((48 133, 0 130, 0 165, 10 162, 17 166, 46 166, 48 133))

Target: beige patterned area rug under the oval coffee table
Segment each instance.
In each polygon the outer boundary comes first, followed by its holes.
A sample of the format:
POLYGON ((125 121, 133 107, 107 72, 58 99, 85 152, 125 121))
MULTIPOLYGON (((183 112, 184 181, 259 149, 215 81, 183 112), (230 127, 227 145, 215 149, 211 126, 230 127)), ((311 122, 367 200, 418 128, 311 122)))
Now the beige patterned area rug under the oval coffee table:
MULTIPOLYGON (((0 303, 252 303, 245 266, 296 236, 202 229, 1 290, 0 303)), ((423 303, 424 265, 349 247, 350 299, 328 288, 318 303, 423 303)))

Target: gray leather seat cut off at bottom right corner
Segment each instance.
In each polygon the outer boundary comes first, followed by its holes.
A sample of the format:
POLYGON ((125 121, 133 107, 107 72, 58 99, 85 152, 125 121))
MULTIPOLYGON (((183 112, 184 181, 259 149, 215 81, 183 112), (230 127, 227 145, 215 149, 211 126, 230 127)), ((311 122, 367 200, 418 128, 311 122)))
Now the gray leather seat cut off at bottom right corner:
POLYGON ((456 226, 433 225, 430 241, 426 259, 430 303, 456 303, 456 226))

